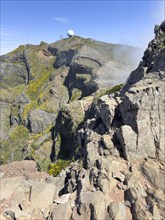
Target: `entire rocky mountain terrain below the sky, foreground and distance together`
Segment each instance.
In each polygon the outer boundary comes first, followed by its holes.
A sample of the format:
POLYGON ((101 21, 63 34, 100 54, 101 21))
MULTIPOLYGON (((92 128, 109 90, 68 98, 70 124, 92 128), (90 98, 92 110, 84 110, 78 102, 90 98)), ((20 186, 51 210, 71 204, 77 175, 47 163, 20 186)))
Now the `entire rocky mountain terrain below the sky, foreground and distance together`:
POLYGON ((133 71, 139 49, 78 36, 1 56, 0 219, 164 219, 165 21, 154 32, 133 71))

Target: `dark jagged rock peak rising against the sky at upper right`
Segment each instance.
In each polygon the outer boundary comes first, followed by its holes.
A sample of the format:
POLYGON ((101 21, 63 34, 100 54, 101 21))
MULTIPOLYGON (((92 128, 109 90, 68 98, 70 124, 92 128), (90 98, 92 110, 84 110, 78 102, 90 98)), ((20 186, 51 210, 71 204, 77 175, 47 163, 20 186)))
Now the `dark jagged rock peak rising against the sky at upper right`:
POLYGON ((154 32, 155 38, 148 44, 137 69, 130 74, 123 92, 143 78, 163 79, 165 77, 165 21, 160 26, 156 25, 154 32))

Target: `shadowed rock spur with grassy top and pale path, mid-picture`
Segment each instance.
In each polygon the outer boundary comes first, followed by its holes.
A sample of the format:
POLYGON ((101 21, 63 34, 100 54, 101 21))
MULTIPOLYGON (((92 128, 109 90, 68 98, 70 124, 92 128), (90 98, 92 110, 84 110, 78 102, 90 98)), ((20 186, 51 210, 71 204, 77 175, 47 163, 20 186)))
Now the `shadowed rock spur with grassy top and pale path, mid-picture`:
POLYGON ((56 119, 54 133, 54 160, 58 157, 71 159, 75 156, 78 148, 77 131, 81 128, 88 110, 92 104, 93 97, 84 100, 72 101, 64 105, 56 119))

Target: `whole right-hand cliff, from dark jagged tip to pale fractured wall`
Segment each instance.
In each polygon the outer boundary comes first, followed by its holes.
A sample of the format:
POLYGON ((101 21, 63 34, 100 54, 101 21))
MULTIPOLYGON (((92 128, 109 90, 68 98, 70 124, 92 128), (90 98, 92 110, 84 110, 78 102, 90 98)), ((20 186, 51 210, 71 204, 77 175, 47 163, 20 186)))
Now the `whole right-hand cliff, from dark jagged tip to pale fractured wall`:
MULTIPOLYGON (((119 114, 123 125, 130 126, 129 130, 132 129, 134 137, 134 143, 131 140, 125 144, 121 140, 122 146, 124 148, 129 145, 136 146, 135 154, 136 156, 139 154, 139 158, 150 157, 165 162, 164 35, 165 22, 156 31, 155 39, 149 43, 148 49, 144 52, 143 61, 130 74, 121 92, 125 95, 121 97, 119 114)), ((122 128, 120 133, 123 135, 122 128)))

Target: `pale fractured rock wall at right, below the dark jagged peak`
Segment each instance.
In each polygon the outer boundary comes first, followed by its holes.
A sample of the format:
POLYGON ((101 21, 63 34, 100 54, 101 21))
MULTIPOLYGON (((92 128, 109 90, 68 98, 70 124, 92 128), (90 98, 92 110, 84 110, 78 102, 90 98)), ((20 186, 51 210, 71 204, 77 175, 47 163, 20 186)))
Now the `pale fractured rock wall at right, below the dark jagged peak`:
MULTIPOLYGON (((144 79, 126 92, 119 106, 122 123, 129 126, 134 137, 134 143, 131 140, 125 145, 121 140, 121 144, 124 148, 133 145, 139 158, 149 156, 165 161, 164 88, 163 81, 144 79)), ((126 133, 129 130, 125 130, 126 133)), ((122 127, 120 133, 123 133, 122 127)))

